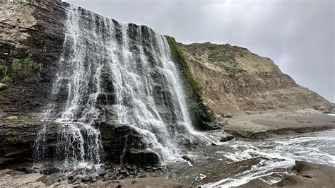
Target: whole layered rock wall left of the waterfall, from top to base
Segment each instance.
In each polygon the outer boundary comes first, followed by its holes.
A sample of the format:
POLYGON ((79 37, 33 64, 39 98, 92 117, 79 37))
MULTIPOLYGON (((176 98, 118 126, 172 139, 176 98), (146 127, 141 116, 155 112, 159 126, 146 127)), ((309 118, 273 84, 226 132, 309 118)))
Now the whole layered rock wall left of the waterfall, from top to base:
MULTIPOLYGON (((42 64, 40 81, 35 70, 13 71, 12 82, 0 92, 0 168, 33 162, 33 143, 42 122, 40 116, 49 101, 52 81, 64 43, 65 7, 61 1, 2 1, 0 5, 0 65, 11 67, 13 59, 42 64)), ((0 79, 4 71, 0 71, 0 79)), ((53 124, 53 123, 51 123, 53 124)), ((50 127, 47 138, 54 146, 57 130, 50 127)))

